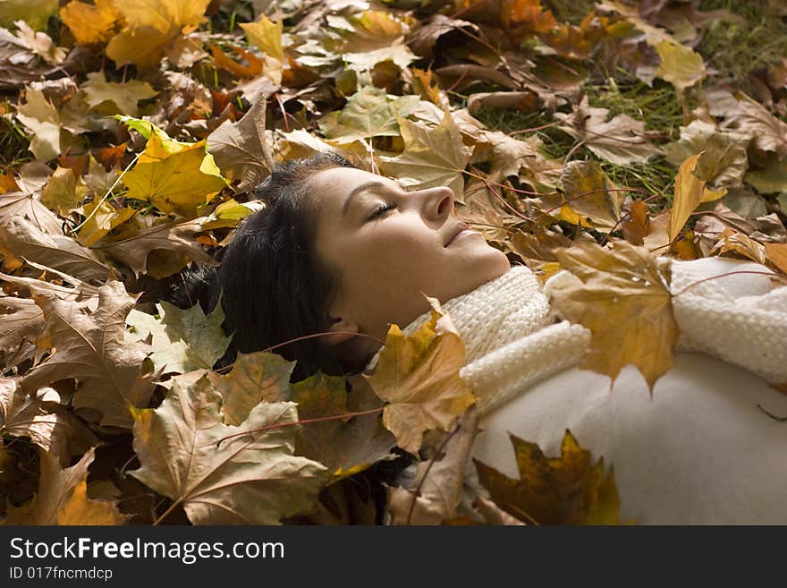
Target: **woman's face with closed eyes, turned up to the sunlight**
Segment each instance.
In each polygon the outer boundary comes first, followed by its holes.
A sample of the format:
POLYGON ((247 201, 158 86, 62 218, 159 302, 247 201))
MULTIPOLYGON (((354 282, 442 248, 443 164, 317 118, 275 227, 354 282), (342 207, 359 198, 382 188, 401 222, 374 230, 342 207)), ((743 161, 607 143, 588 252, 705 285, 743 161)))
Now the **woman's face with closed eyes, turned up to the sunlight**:
MULTIPOLYGON (((461 234, 446 246, 463 225, 450 188, 406 192, 391 179, 349 167, 319 172, 312 186, 317 254, 343 272, 333 330, 385 340, 389 323, 404 328, 429 310, 424 294, 444 303, 511 268, 481 234, 461 234)), ((329 343, 343 341, 332 337, 329 343)))

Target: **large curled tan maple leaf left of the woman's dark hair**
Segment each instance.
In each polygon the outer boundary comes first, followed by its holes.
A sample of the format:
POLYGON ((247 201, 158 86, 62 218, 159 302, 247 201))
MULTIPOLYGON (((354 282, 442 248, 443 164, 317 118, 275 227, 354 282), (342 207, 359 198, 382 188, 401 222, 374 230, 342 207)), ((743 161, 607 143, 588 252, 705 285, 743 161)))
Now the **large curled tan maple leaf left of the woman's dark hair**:
POLYGON ((76 379, 74 408, 101 413, 102 425, 130 428, 129 405, 147 405, 153 392, 142 365, 148 346, 123 337, 126 315, 136 299, 115 281, 99 288, 95 311, 86 303, 33 298, 44 312, 44 337, 55 351, 25 374, 22 388, 35 391, 60 379, 76 379))

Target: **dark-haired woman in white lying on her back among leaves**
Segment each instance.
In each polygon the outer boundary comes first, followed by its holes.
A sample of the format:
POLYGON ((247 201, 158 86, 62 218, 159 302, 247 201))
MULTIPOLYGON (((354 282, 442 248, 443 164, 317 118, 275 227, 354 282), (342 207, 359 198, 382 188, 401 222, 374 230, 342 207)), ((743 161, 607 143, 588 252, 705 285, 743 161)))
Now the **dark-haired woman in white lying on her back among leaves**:
MULTIPOLYGON (((267 208, 239 227, 215 279, 211 270, 198 277, 200 302, 211 308, 221 292, 224 327, 234 332, 219 364, 327 333, 276 349, 298 361, 294 380, 317 369, 371 369, 391 323, 410 334, 428 320, 427 294, 443 303, 466 345, 461 376, 483 413, 473 447, 480 461, 517 477, 509 432, 556 455, 569 428, 594 458, 614 465, 625 519, 787 524, 787 425, 757 407, 787 413, 787 397, 766 382, 787 381, 787 350, 773 344, 787 340, 787 287, 764 276, 723 277, 676 298, 679 350, 706 354, 677 354, 650 396, 632 366, 612 389, 609 378, 576 367, 589 332, 555 322, 544 292, 571 275, 561 272, 542 289, 529 268, 512 267, 467 230, 450 189, 405 192, 343 158, 318 155, 284 163, 257 197, 267 208), (739 307, 745 318, 762 304, 773 312, 769 345, 757 341, 764 332, 736 328, 739 307), (740 340, 707 341, 705 329, 740 340), (763 349, 774 356, 763 358, 763 349)), ((672 264, 673 294, 729 266, 767 271, 735 260, 662 262, 672 264)))

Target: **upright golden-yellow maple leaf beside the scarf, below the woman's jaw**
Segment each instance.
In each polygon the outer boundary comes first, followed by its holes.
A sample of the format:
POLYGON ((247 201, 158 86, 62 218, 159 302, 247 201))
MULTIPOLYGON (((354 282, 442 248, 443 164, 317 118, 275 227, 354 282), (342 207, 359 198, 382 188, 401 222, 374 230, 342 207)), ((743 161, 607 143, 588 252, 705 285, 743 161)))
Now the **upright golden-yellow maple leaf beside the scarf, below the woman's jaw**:
POLYGON ((465 361, 459 332, 439 301, 427 300, 432 318, 410 337, 391 325, 376 370, 364 374, 377 396, 388 402, 385 428, 410 453, 419 450, 424 431, 448 430, 476 401, 459 376, 465 361))

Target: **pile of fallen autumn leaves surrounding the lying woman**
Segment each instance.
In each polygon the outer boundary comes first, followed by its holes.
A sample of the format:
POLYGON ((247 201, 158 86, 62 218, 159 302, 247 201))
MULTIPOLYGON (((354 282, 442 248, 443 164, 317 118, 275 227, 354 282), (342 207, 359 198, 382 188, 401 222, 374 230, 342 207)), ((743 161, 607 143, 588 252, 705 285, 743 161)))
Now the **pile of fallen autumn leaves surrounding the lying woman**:
MULTIPOLYGON (((461 337, 434 299, 415 335, 391 328, 373 374, 291 383, 294 364, 272 351, 211 370, 230 340, 220 308, 153 308, 130 292, 189 262, 213 264, 204 246, 229 243, 260 208, 235 196, 275 161, 336 151, 411 188, 452 187, 461 216, 542 278, 568 268, 603 292, 624 276, 629 302, 607 301, 595 315, 617 330, 595 338, 588 357, 629 345, 627 361, 652 388, 668 362, 638 358, 668 360, 674 341, 644 348, 626 337, 643 297, 659 301, 655 320, 673 324, 655 254, 732 252, 787 272, 779 217, 740 208, 762 198, 739 193, 740 214, 724 204, 744 183, 787 192, 787 124, 752 98, 711 89, 680 139, 659 147, 641 121, 578 99, 581 68, 569 74, 556 60, 580 64, 605 46, 619 49, 605 59, 622 62, 609 65, 678 92, 707 78, 695 51, 630 4, 602 3, 568 25, 532 0, 489 2, 491 11, 446 3, 451 10, 422 22, 361 0, 296 2, 287 32, 283 15, 260 14, 241 22, 242 38, 208 32, 208 4, 38 0, 0 30, 2 88, 18 92, 0 112, 9 133, 29 139, 21 156, 35 158, 0 175, 4 522, 374 523, 373 500, 354 481, 393 459, 394 447, 422 461, 412 486, 388 489, 393 523, 617 522, 612 476, 570 434, 555 458, 512 439, 529 484, 477 463, 491 499, 477 497, 472 520, 459 514, 478 415, 459 378, 461 337), (448 16, 460 9, 461 19, 448 16), (50 16, 62 23, 57 42, 42 31, 50 16), (495 30, 496 54, 487 50, 495 30), (523 58, 523 39, 551 52, 523 58), (434 72, 412 66, 441 53, 460 56, 434 72), (138 79, 125 78, 134 71, 138 79), (504 91, 453 108, 445 88, 470 91, 479 80, 504 91), (553 160, 536 135, 485 128, 470 114, 483 106, 545 108, 578 148, 616 165, 665 155, 679 166, 672 206, 653 215, 594 159, 553 160), (614 250, 596 244, 613 232, 622 234, 614 250), (436 363, 443 369, 428 369, 436 363), (574 483, 550 486, 555 470, 574 483)), ((585 324, 572 295, 562 310, 585 324)), ((622 366, 586 367, 614 378, 622 366)))

